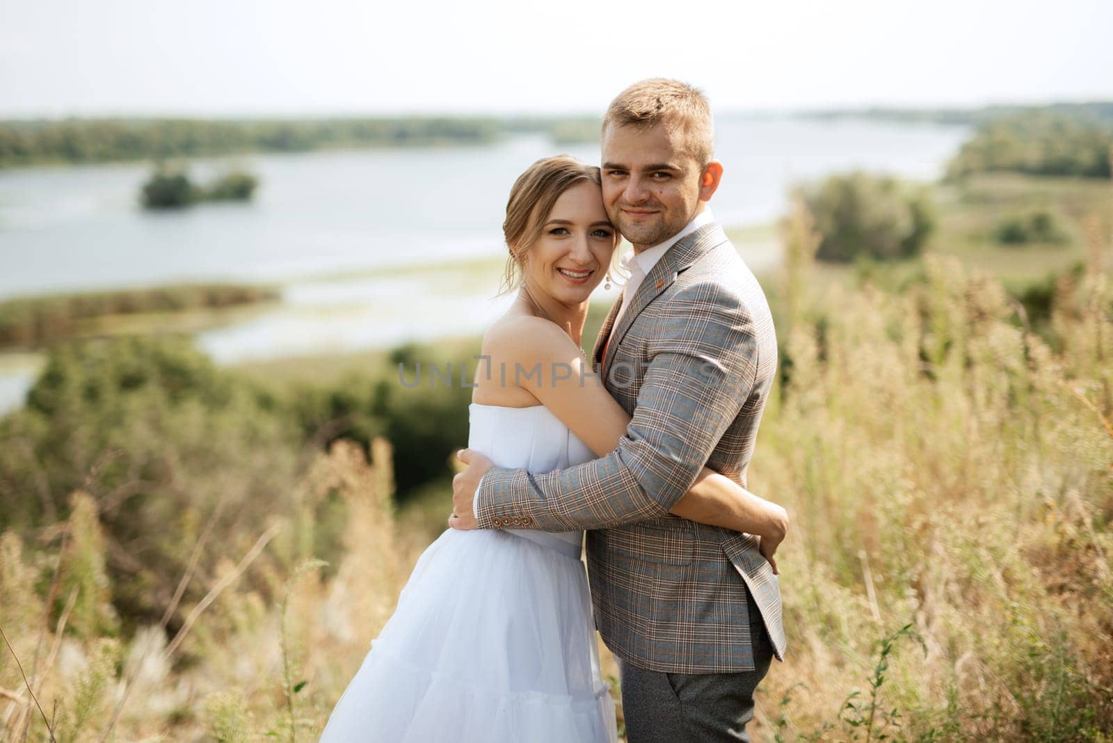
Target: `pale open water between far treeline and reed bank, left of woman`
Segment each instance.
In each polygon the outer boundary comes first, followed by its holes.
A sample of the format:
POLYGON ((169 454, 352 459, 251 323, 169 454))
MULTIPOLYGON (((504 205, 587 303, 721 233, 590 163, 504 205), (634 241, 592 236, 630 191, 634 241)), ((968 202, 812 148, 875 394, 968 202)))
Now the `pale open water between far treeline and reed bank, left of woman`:
MULTIPOLYGON (((254 202, 171 212, 136 202, 147 165, 0 171, 0 298, 490 255, 510 184, 544 147, 253 156, 254 202)), ((201 180, 219 167, 199 166, 201 180)))

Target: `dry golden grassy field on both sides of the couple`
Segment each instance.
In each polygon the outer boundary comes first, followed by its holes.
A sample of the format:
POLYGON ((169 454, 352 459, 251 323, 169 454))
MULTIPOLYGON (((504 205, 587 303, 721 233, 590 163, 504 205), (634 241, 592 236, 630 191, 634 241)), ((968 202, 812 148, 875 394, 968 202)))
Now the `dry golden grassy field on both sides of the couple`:
MULTIPOLYGON (((817 266, 797 220, 787 271, 764 277, 782 379, 750 483, 794 526, 778 559, 788 656, 759 690, 755 740, 1113 737, 1110 186, 940 188, 923 259, 817 266), (998 214, 1047 201, 1068 242, 988 240, 998 214), (1026 324, 1002 281, 1048 271, 1050 311, 1026 324)), ((585 338, 605 309, 593 308, 585 338)), ((385 358, 227 374, 275 389, 343 384, 385 358)), ((67 399, 58 425, 78 429, 67 399)), ((166 433, 154 414, 112 432, 118 446, 156 453, 185 437, 142 473, 184 504, 154 535, 184 566, 165 585, 120 577, 127 554, 109 531, 119 504, 92 474, 65 516, 0 536, 12 648, 0 647, 0 740, 46 741, 48 727, 66 741, 315 740, 442 527, 447 483, 397 507, 387 440, 368 462, 343 438, 328 450, 282 444, 266 417, 233 436, 244 416, 230 399, 204 415, 185 400, 166 433), (243 497, 214 506, 220 494, 243 497), (141 592, 173 611, 121 624, 114 596, 141 592)), ((35 425, 17 430, 30 437, 35 425)), ((13 435, 6 448, 20 444, 13 435)), ((14 495, 41 497, 33 469, 26 482, 14 495)))

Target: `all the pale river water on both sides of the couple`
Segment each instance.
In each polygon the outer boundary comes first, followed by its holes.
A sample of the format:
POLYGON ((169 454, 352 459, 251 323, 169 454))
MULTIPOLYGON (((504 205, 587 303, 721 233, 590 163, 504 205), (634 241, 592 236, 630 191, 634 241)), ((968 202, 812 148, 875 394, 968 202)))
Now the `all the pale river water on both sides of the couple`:
MULTIPOLYGON (((725 225, 767 222, 800 179, 861 168, 936 178, 963 127, 868 121, 721 120, 722 186, 711 202, 725 225)), ((201 333, 219 363, 355 350, 474 331, 508 299, 498 277, 461 285, 429 267, 503 256, 500 226, 514 178, 565 151, 595 162, 595 145, 556 147, 540 136, 475 148, 254 155, 236 162, 260 178, 249 205, 144 211, 146 164, 0 171, 0 298, 193 280, 277 281, 283 305, 201 333), (384 273, 424 267, 414 274, 384 273), (349 274, 344 277, 343 274, 349 274)), ((203 160, 211 177, 227 161, 203 160)), ((774 245, 743 245, 756 270, 774 245)), ((617 295, 599 290, 599 300, 617 295)), ((18 405, 33 373, 0 368, 0 409, 18 405)))

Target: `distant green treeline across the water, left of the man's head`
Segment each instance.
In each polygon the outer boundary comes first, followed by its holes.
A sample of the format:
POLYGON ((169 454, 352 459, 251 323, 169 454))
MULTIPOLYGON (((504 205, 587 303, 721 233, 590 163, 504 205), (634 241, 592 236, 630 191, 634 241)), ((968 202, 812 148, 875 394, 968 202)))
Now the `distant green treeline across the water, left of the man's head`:
POLYGON ((599 137, 599 120, 588 117, 13 120, 0 121, 0 168, 329 148, 481 145, 522 132, 546 133, 560 143, 593 141, 599 137))

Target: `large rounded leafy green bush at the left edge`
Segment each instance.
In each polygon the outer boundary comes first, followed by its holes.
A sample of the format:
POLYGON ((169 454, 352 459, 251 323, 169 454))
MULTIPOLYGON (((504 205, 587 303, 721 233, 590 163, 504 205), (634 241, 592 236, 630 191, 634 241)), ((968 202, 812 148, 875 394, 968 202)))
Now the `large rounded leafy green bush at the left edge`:
MULTIPOLYGON (((0 417, 0 532, 65 519, 70 494, 88 493, 129 625, 162 615, 209 519, 218 548, 205 551, 201 575, 295 504, 301 438, 282 400, 187 338, 55 347, 24 407, 0 417)), ((185 605, 205 590, 194 581, 185 605)))

